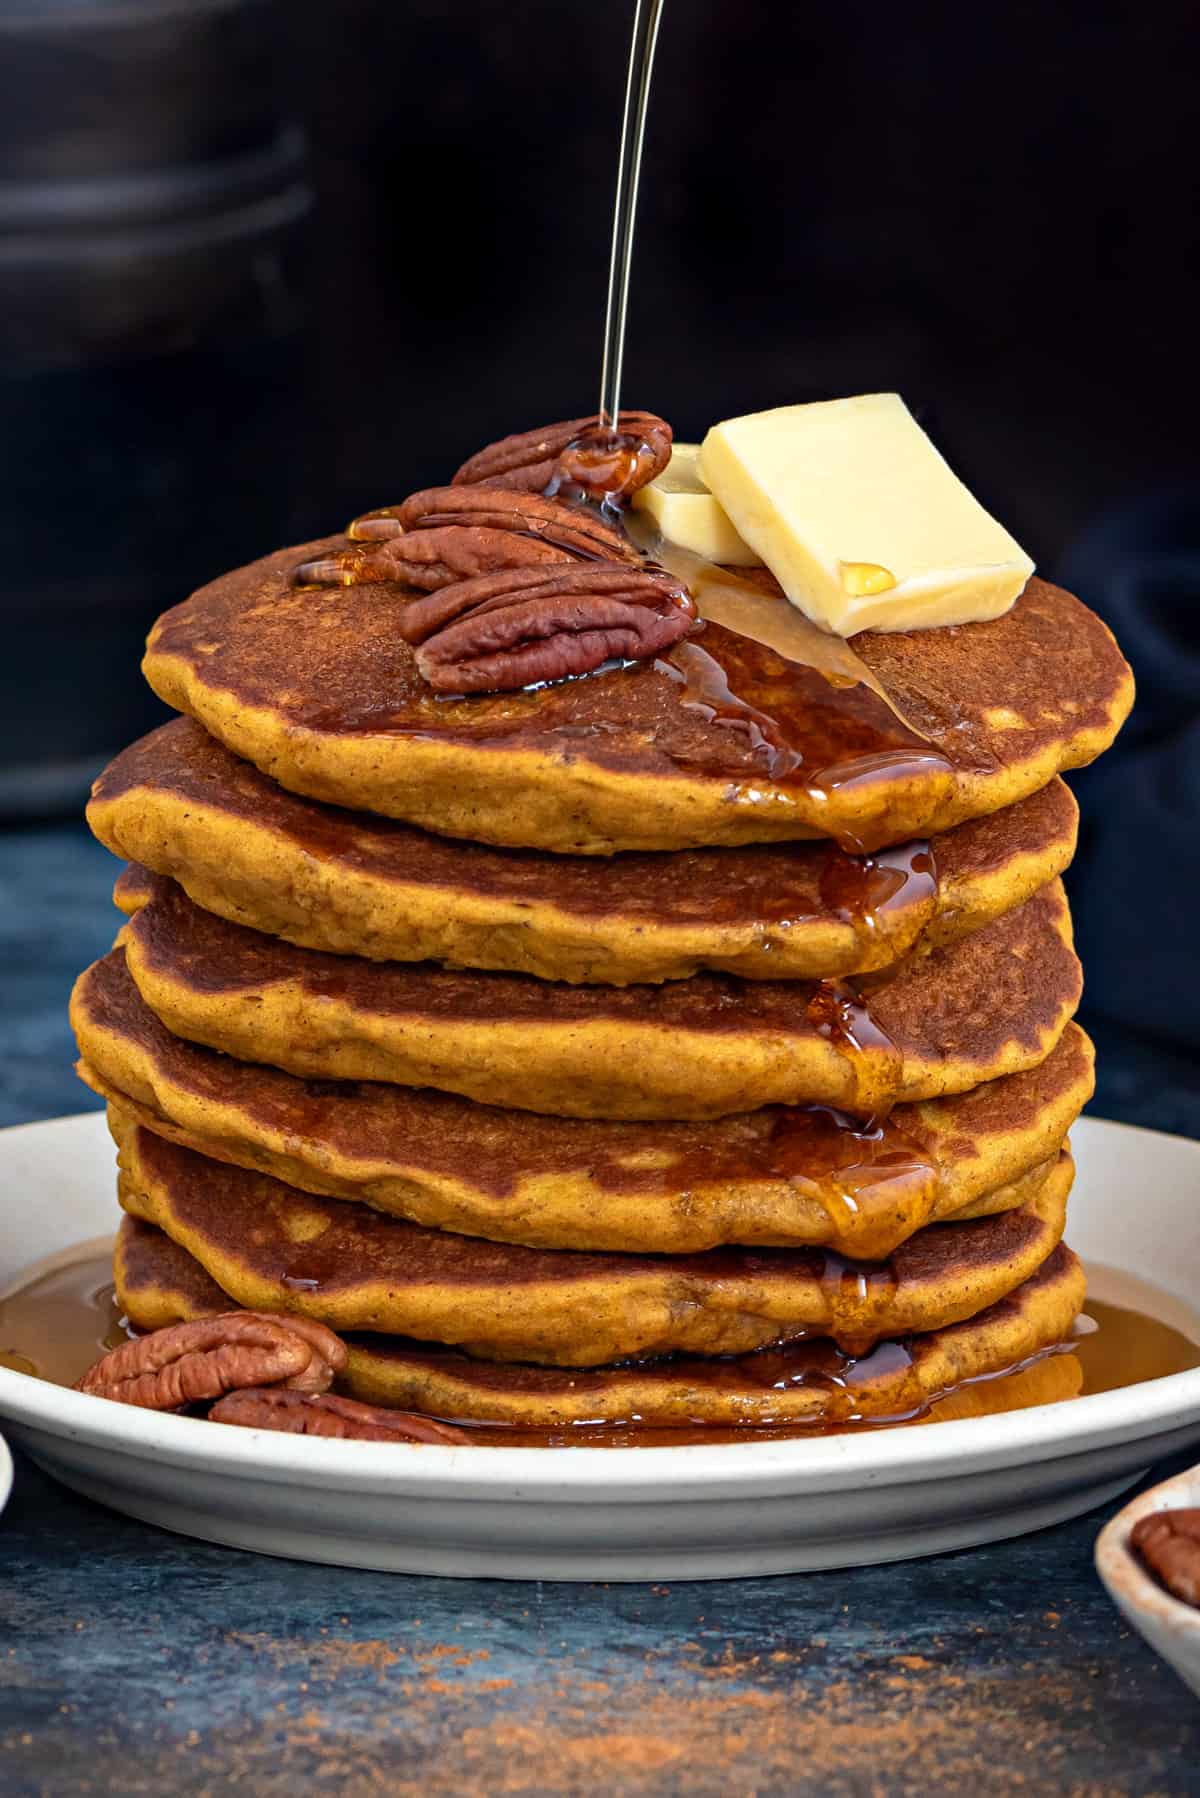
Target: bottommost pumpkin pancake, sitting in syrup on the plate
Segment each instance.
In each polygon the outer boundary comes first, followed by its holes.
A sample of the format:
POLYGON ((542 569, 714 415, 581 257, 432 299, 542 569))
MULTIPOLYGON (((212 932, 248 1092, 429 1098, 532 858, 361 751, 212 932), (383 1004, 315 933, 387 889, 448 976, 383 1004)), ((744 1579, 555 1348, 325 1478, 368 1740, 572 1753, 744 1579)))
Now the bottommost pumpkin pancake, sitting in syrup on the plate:
MULTIPOLYGON (((160 1230, 128 1215, 117 1237, 113 1280, 117 1300, 137 1329, 162 1329, 230 1305, 230 1296, 198 1260, 160 1230)), ((880 1343, 860 1361, 842 1356, 831 1343, 810 1340, 716 1361, 680 1356, 563 1370, 479 1361, 453 1348, 387 1336, 351 1336, 349 1368, 338 1386, 371 1404, 507 1426, 504 1444, 515 1440, 509 1429, 588 1422, 820 1428, 855 1417, 912 1413, 932 1422, 1074 1397, 1079 1363, 1070 1354, 1034 1361, 1024 1372, 1006 1370, 1069 1340, 1083 1298, 1083 1269, 1060 1244, 1029 1280, 979 1316, 880 1343), (1063 1363, 1061 1379, 1040 1372, 1054 1363, 1063 1363), (986 1384, 964 1386, 964 1381, 986 1384), (1002 1386, 1011 1393, 1000 1393, 1002 1386), (939 1401, 946 1392, 950 1397, 939 1401)))

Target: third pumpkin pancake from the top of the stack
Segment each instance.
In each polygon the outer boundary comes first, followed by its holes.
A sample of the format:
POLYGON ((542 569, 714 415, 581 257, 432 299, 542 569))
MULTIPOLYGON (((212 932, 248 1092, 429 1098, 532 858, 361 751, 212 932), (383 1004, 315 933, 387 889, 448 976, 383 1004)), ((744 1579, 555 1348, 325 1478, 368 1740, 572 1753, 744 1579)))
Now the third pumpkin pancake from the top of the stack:
POLYGON ((558 1117, 871 1115, 1045 1061, 1079 1000, 1061 883, 973 935, 833 985, 693 975, 579 987, 297 949, 158 881, 124 926, 151 1010, 193 1043, 306 1079, 435 1086, 558 1117))

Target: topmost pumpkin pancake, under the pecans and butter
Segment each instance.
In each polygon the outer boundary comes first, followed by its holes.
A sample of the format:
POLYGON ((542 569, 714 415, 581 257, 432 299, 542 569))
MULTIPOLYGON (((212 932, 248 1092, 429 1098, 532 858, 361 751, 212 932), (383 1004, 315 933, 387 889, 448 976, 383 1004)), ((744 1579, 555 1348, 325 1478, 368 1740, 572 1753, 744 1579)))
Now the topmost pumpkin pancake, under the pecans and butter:
MULTIPOLYGON (((486 843, 612 854, 833 836, 878 849, 1092 761, 1133 696, 1099 619, 1034 579, 986 624, 853 638, 912 728, 869 689, 757 645, 748 685, 730 676, 754 717, 696 699, 687 645, 533 692, 439 699, 398 633, 410 590, 293 586, 299 563, 347 547, 277 550, 201 588, 151 631, 146 678, 291 791, 486 843), (756 723, 765 696, 774 716, 806 714, 786 779, 756 723), (855 719, 837 766, 804 753, 822 710, 855 719)), ((709 624, 698 642, 732 667, 748 640, 709 624)))

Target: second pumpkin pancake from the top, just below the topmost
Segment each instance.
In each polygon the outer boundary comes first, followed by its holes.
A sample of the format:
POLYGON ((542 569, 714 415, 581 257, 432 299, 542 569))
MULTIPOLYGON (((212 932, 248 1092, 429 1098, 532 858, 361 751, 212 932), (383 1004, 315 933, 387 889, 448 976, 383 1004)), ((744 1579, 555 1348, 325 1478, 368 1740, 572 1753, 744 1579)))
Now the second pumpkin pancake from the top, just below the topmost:
POLYGON ((918 937, 948 942, 1029 899, 1070 861, 1076 820, 1052 780, 928 850, 545 856, 297 798, 184 717, 124 750, 88 806, 113 854, 308 949, 613 985, 702 967, 752 980, 883 967, 918 937))

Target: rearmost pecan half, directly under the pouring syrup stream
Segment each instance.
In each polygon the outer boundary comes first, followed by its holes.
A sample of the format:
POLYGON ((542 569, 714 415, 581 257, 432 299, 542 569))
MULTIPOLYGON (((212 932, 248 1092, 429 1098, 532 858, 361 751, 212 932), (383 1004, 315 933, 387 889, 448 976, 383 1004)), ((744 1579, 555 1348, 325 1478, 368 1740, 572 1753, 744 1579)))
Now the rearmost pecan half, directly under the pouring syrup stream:
POLYGON ((628 500, 669 460, 671 426, 655 412, 622 412, 615 432, 603 428, 594 412, 587 419, 563 419, 488 444, 462 464, 453 484, 520 487, 525 493, 574 484, 592 498, 628 500), (574 453, 576 444, 579 453, 574 453))

